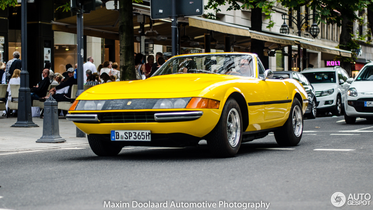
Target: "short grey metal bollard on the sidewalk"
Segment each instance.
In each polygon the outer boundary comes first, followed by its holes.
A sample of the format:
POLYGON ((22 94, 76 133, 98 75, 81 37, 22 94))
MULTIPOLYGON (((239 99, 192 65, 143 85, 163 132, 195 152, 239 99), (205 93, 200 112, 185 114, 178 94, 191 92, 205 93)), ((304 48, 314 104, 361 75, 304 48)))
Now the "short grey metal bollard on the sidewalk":
POLYGON ((52 95, 44 102, 43 136, 36 141, 37 143, 66 142, 60 136, 57 104, 52 95))

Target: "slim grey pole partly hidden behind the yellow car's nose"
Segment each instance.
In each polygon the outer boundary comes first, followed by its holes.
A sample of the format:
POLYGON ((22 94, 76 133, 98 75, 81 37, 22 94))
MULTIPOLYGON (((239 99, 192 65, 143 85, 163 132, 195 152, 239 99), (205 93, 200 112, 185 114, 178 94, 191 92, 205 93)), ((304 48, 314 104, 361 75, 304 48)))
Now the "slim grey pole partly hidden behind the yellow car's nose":
MULTIPOLYGON (((83 43, 83 9, 79 9, 76 13, 76 37, 78 41, 78 68, 76 69, 76 78, 78 79, 78 91, 76 97, 84 92, 84 81, 83 81, 83 59, 84 59, 84 43, 83 43)), ((76 127, 76 137, 85 137, 85 133, 76 127)))

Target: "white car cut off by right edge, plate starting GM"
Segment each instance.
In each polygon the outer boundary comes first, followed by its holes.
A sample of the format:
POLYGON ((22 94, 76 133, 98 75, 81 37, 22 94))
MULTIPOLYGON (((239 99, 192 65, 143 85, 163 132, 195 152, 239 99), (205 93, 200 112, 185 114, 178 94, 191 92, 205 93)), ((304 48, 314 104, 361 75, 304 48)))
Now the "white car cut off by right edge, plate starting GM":
POLYGON ((366 64, 351 83, 345 99, 345 121, 355 123, 356 117, 373 120, 373 62, 366 64))

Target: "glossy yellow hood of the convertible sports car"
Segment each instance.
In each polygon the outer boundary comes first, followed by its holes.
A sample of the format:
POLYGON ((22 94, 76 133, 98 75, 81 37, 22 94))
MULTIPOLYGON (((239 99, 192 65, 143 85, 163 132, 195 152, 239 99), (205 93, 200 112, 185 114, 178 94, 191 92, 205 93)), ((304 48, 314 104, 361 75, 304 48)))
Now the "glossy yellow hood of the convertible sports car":
POLYGON ((86 92, 92 94, 123 93, 180 93, 202 90, 231 75, 219 74, 171 74, 151 77, 146 80, 119 81, 91 87, 86 92))

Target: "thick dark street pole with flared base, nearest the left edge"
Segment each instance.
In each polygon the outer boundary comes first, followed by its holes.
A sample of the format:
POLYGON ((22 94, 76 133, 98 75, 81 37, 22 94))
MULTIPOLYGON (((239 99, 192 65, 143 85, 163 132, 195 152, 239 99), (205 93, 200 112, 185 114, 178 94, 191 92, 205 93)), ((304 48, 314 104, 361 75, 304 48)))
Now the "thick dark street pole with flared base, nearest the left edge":
POLYGON ((18 95, 18 117, 17 122, 11 127, 39 127, 32 122, 31 94, 29 88, 29 75, 27 71, 27 0, 21 1, 21 47, 22 47, 22 70, 21 84, 18 95))

